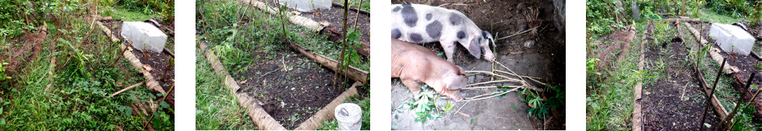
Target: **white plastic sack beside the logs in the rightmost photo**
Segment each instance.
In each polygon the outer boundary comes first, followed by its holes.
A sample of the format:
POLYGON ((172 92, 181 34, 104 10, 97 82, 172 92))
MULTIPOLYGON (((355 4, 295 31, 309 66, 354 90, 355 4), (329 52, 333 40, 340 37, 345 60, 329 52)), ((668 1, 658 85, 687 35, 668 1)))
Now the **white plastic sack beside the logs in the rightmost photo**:
POLYGON ((748 56, 754 47, 754 37, 741 27, 730 24, 712 23, 709 36, 717 40, 717 45, 725 52, 748 56))

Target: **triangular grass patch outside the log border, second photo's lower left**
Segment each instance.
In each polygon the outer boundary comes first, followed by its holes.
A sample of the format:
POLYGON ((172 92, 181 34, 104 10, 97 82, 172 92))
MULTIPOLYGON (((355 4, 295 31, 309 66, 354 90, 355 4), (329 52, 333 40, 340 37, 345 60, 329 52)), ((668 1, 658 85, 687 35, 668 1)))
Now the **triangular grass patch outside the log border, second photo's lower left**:
POLYGON ((211 63, 196 53, 196 129, 199 130, 251 130, 254 122, 239 107, 238 100, 225 88, 223 79, 216 75, 211 63))

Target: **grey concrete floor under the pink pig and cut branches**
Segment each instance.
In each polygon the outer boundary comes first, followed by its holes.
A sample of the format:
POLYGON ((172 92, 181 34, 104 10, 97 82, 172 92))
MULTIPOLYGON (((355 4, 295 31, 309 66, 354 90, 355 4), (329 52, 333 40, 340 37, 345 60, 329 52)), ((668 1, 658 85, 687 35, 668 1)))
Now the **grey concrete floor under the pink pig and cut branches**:
MULTIPOLYGON (((519 75, 528 75, 539 78, 547 78, 549 60, 537 54, 498 56, 498 62, 502 62, 519 75)), ((490 71, 491 62, 478 60, 468 62, 469 65, 456 63, 465 70, 490 71)), ((505 70, 505 69, 501 69, 505 70)), ((469 83, 477 81, 484 76, 469 77, 469 83)), ((536 85, 537 86, 537 85, 536 85)), ((488 92, 498 91, 495 88, 474 89, 461 91, 463 97, 474 97, 488 92)), ((440 118, 427 120, 426 123, 415 122, 415 112, 410 111, 407 105, 413 101, 413 94, 402 85, 399 79, 392 79, 392 129, 397 130, 533 130, 532 123, 527 117, 526 110, 530 107, 520 101, 518 92, 507 93, 504 97, 492 97, 485 100, 465 101, 454 103, 453 110, 444 113, 440 118), (466 107, 463 107, 466 104, 466 107), (466 117, 456 113, 469 115, 466 117)), ((437 101, 437 107, 444 107, 449 99, 437 101)))

